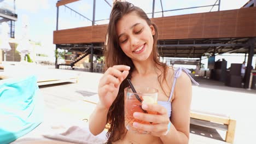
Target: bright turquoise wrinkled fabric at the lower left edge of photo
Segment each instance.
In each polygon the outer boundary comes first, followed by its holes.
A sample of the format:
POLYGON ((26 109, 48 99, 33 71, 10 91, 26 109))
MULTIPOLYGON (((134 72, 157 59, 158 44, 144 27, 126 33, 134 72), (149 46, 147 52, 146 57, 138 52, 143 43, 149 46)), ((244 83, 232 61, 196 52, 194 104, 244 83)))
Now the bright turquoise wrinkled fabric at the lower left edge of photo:
POLYGON ((10 143, 43 122, 36 76, 0 80, 0 143, 10 143))

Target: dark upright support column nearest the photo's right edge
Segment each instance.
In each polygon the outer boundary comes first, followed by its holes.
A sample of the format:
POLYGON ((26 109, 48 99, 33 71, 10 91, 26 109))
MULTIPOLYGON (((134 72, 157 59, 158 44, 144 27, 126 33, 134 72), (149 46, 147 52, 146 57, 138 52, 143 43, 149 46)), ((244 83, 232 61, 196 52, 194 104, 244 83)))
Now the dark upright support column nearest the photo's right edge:
POLYGON ((249 79, 250 79, 250 72, 252 67, 252 58, 254 53, 254 41, 255 41, 255 38, 250 38, 248 40, 249 52, 248 52, 248 60, 247 60, 247 67, 246 67, 246 74, 245 74, 245 78, 246 78, 245 88, 249 88, 249 79))

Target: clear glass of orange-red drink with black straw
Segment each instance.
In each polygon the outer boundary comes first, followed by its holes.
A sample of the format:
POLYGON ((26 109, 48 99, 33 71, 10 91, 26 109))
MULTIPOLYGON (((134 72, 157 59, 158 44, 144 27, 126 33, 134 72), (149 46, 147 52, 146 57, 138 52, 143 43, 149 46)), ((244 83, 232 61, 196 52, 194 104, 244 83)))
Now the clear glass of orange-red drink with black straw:
POLYGON ((157 104, 158 103, 158 89, 151 87, 136 87, 137 93, 133 93, 131 87, 124 89, 125 95, 125 127, 127 130, 135 131, 139 134, 147 134, 143 131, 132 127, 133 122, 142 124, 154 124, 151 122, 141 121, 133 117, 134 112, 143 112, 156 115, 155 111, 146 111, 142 109, 142 104, 157 104))

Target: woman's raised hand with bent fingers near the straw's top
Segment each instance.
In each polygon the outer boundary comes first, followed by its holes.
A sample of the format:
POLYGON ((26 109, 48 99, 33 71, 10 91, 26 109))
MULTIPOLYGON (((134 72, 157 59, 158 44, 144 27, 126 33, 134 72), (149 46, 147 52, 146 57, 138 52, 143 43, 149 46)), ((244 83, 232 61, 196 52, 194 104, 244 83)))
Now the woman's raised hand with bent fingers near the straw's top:
POLYGON ((98 84, 98 97, 100 106, 109 109, 119 91, 121 82, 129 74, 130 67, 126 65, 114 65, 106 70, 98 84), (123 72, 122 72, 123 71, 123 72))

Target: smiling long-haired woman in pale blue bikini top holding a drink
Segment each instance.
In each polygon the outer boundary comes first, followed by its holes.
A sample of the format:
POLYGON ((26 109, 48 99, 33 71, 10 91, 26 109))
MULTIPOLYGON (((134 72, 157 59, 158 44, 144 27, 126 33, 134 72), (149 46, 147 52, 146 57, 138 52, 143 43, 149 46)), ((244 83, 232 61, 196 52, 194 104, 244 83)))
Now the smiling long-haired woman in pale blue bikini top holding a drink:
POLYGON ((107 143, 188 143, 191 102, 190 77, 182 69, 161 63, 156 43, 158 29, 147 14, 128 2, 116 2, 107 29, 106 67, 98 85, 100 99, 89 121, 92 134, 109 124, 107 143), (133 85, 157 88, 158 105, 142 105, 158 115, 133 113, 133 117, 155 124, 134 122, 149 131, 135 134, 124 124, 124 88, 133 85))

